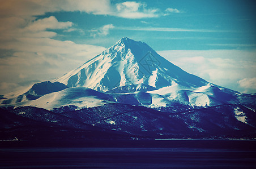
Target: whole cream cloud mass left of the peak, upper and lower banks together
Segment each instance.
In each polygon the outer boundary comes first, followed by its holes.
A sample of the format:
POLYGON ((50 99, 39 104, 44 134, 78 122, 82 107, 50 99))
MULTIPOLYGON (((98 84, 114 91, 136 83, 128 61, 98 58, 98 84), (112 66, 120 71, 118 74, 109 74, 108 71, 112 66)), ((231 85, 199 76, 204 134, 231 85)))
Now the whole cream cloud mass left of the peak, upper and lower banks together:
POLYGON ((20 82, 57 78, 105 50, 53 39, 54 29, 74 29, 70 21, 60 22, 54 16, 37 20, 11 16, 0 21, 0 49, 11 51, 0 57, 0 94, 20 90, 20 82))

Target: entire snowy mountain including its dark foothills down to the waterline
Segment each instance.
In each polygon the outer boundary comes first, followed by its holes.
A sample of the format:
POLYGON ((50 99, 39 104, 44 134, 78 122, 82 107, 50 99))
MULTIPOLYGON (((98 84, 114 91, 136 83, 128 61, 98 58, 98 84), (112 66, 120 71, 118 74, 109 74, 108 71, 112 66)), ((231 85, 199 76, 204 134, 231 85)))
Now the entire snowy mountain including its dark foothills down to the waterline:
POLYGON ((8 119, 2 122, 3 133, 11 136, 44 133, 51 126, 56 126, 50 129, 53 138, 62 127, 71 127, 67 135, 83 130, 79 138, 95 131, 99 137, 113 131, 116 137, 256 135, 255 94, 209 83, 165 60, 146 43, 129 38, 54 82, 2 96, 0 103, 10 109, 0 108, 0 116, 8 119), (34 130, 36 122, 42 126, 34 130), (17 126, 22 132, 16 132, 17 126))

